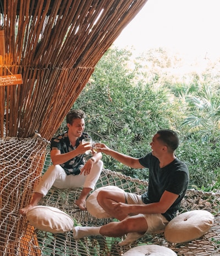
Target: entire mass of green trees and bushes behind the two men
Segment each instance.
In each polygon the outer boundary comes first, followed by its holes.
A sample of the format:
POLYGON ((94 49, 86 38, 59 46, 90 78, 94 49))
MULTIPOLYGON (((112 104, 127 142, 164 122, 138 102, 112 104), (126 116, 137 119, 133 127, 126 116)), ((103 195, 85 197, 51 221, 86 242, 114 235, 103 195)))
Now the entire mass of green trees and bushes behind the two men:
MULTIPOLYGON (((158 129, 173 129, 180 137, 177 156, 188 164, 191 187, 215 190, 219 185, 219 75, 190 73, 174 78, 167 68, 179 60, 163 50, 132 60, 127 50, 109 49, 97 63, 73 108, 87 114, 86 131, 113 150, 133 157, 151 151, 158 129), (155 57, 153 57, 155 55, 155 57)), ((103 155, 105 168, 147 179, 103 155)))

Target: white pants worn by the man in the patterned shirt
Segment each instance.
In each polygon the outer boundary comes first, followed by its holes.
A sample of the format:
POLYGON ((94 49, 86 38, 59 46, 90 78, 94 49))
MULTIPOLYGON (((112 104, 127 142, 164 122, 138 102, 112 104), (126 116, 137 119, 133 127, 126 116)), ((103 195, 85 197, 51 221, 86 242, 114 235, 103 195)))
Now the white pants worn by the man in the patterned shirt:
POLYGON ((43 174, 39 184, 35 188, 35 192, 40 193, 44 196, 48 193, 52 186, 58 189, 68 188, 95 188, 96 182, 102 172, 103 162, 100 160, 94 163, 90 174, 84 175, 67 175, 64 169, 57 165, 50 166, 46 173, 43 174))

